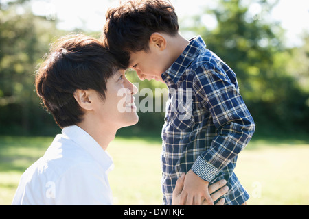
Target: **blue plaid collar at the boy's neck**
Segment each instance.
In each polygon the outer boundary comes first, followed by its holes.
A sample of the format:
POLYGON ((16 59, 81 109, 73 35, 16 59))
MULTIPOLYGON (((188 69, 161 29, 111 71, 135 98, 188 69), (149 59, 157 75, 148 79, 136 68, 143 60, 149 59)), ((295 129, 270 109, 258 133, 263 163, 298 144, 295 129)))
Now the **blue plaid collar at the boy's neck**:
POLYGON ((205 48, 206 44, 201 36, 192 38, 183 53, 177 58, 172 66, 162 74, 163 81, 172 79, 176 84, 198 53, 205 48))

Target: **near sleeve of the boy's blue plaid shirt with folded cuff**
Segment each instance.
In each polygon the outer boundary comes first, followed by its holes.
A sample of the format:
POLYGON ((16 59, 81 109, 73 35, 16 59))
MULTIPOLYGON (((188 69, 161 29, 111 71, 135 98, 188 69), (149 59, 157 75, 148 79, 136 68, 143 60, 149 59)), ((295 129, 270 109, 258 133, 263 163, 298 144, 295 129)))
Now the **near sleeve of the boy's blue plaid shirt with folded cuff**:
POLYGON ((196 159, 192 170, 211 182, 251 140, 255 124, 230 68, 210 62, 199 66, 193 87, 198 101, 210 110, 217 135, 211 147, 196 159), (233 77, 228 77, 229 74, 233 77))

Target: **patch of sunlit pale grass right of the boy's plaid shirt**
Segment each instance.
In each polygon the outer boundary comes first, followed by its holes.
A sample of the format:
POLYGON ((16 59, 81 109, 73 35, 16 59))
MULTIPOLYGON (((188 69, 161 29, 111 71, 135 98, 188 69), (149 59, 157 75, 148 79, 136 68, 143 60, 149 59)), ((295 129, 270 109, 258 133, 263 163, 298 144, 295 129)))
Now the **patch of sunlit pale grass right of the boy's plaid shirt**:
POLYGON ((309 143, 256 140, 239 156, 236 175, 249 205, 309 205, 309 143))

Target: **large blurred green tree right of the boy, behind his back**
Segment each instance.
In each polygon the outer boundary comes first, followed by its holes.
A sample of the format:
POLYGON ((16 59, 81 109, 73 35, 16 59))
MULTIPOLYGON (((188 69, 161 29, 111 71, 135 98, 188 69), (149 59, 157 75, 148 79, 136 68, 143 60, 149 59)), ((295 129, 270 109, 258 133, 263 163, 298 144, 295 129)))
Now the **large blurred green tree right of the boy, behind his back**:
POLYGON ((284 31, 279 23, 268 21, 266 12, 276 2, 256 3, 260 14, 252 14, 245 1, 220 0, 218 7, 205 12, 216 18, 215 29, 207 29, 201 16, 195 16, 194 27, 187 29, 201 34, 208 49, 234 70, 258 132, 308 130, 303 122, 308 120, 308 94, 288 72, 287 61, 293 57, 284 47, 284 31))

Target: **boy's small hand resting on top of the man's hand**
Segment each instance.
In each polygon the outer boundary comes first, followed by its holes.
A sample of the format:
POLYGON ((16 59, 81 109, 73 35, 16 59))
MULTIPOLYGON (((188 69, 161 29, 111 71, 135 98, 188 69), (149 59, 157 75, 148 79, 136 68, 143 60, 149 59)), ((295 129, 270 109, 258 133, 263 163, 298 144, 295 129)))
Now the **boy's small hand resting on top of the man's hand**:
POLYGON ((198 177, 192 170, 187 172, 180 196, 180 205, 201 205, 201 200, 206 199, 209 205, 214 205, 209 191, 209 182, 198 177))

